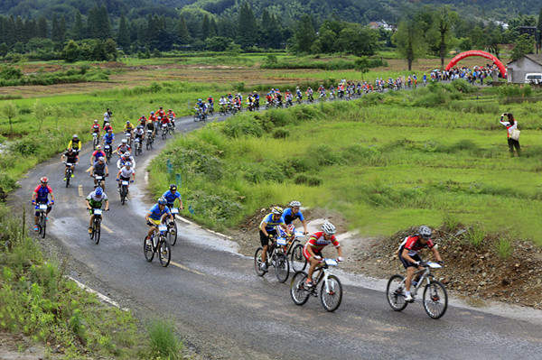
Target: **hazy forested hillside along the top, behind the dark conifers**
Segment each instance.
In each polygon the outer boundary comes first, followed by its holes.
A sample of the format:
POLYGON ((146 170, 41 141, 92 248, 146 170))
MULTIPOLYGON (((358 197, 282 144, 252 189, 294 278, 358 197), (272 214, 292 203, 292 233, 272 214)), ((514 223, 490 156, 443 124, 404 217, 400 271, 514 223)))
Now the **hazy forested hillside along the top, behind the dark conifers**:
MULTIPOLYGON (((460 15, 474 15, 480 18, 506 20, 518 14, 537 15, 540 11, 539 0, 502 1, 502 0, 246 0, 254 14, 260 16, 266 9, 288 23, 289 19, 298 19, 300 14, 312 14, 315 19, 330 18, 332 14, 342 20, 353 23, 368 23, 385 20, 397 23, 401 13, 411 6, 451 5, 460 15)), ((77 11, 89 14, 94 6, 105 5, 107 13, 118 18, 125 14, 128 18, 145 17, 158 14, 175 17, 174 9, 185 5, 202 9, 210 14, 227 17, 238 14, 245 3, 241 0, 2 0, 0 14, 37 19, 40 16, 51 19, 53 14, 64 15, 70 23, 77 11)))

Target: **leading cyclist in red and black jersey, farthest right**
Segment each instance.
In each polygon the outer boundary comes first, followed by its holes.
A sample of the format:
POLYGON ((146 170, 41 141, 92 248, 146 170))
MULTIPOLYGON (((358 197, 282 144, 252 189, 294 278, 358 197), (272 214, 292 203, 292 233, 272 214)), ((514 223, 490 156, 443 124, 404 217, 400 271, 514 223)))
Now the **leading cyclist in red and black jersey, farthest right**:
POLYGON ((430 248, 435 255, 437 263, 443 264, 443 260, 438 254, 437 246, 431 240, 431 235, 433 231, 429 226, 420 226, 417 234, 412 236, 406 236, 405 240, 399 246, 399 260, 403 263, 403 266, 406 269, 406 281, 405 281, 405 301, 412 302, 414 298, 410 295, 410 284, 412 283, 412 277, 416 269, 423 269, 422 258, 420 257, 418 251, 425 249, 425 247, 430 248))

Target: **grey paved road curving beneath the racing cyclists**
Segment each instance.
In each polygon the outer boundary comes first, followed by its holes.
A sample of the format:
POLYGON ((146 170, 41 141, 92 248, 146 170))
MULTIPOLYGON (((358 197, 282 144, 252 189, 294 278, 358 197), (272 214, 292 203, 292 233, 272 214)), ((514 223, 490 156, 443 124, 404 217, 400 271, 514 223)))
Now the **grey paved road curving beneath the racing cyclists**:
MULTIPOLYGON (((182 131, 199 126, 190 118, 177 120, 182 131)), ((541 312, 516 319, 461 306, 449 307, 434 320, 418 302, 397 313, 381 290, 363 287, 365 279, 340 274, 344 298, 335 313, 313 298, 294 305, 289 287, 267 274, 256 276, 252 259, 236 254, 235 245, 199 226, 181 224, 173 247, 173 263, 163 268, 147 263, 143 238, 145 212, 152 198, 145 192, 145 163, 164 142, 137 161, 131 198, 120 205, 109 179, 106 192, 111 211, 99 245, 87 235, 84 198, 92 181, 83 166, 66 189, 58 159, 42 163, 20 180, 14 195, 27 198, 41 176, 51 179, 56 205, 48 238, 70 259, 70 275, 135 309, 143 318, 172 319, 181 336, 201 355, 223 359, 535 359, 542 355, 541 312), (80 186, 80 189, 79 189, 80 186), (134 194, 137 194, 134 196, 134 194)), ((89 145, 81 163, 89 162, 89 145)), ((60 156, 59 156, 60 158, 60 156)), ((255 247, 258 241, 255 239, 255 247)))

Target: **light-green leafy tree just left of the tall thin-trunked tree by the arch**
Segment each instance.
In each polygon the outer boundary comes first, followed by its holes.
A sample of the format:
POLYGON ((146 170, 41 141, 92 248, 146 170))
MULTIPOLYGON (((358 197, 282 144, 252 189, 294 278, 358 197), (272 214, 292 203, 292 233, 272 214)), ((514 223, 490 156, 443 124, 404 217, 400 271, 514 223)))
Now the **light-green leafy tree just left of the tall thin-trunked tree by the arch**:
POLYGON ((418 23, 421 21, 419 13, 406 14, 406 17, 399 23, 397 32, 391 37, 391 41, 408 62, 409 71, 412 70, 414 60, 425 52, 423 32, 418 23))

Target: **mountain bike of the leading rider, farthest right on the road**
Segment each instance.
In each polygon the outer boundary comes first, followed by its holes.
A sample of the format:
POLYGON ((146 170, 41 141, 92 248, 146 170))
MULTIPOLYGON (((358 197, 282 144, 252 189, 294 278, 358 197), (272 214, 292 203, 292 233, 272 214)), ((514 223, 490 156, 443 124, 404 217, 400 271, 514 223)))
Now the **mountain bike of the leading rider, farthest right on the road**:
MULTIPOLYGON (((424 269, 414 273, 411 285, 411 296, 416 297, 417 291, 425 283, 424 287, 424 309, 431 318, 441 318, 448 308, 448 293, 442 282, 434 279, 431 269, 440 269, 442 266, 438 263, 422 263, 424 269), (416 282, 414 279, 419 280, 416 282)), ((396 273, 388 281, 386 295, 389 306, 396 311, 402 311, 408 303, 405 300, 405 280, 403 275, 396 273)))

